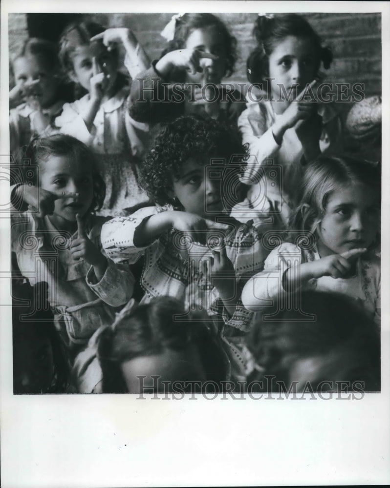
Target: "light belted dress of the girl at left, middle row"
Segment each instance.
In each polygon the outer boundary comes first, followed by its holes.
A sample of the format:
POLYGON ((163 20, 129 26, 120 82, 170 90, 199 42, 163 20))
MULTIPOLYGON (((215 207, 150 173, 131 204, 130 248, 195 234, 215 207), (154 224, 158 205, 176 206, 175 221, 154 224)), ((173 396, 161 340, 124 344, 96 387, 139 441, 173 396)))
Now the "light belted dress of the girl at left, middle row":
MULTIPOLYGON (((95 330, 112 324, 117 307, 130 300, 134 285, 130 269, 108 259, 98 281, 92 266, 73 259, 66 239, 47 216, 41 219, 31 212, 13 212, 11 219, 12 251, 19 270, 31 285, 48 284, 55 326, 73 358, 95 330)), ((91 216, 87 222, 87 236, 100 249, 100 231, 106 220, 91 216)))

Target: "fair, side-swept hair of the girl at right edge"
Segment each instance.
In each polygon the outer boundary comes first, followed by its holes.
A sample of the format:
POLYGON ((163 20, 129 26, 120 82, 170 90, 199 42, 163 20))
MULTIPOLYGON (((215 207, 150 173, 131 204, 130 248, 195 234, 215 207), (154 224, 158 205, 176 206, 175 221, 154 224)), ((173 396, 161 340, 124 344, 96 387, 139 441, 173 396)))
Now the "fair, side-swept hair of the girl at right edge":
POLYGON ((354 184, 374 189, 380 203, 381 174, 377 164, 349 156, 320 156, 309 163, 303 173, 290 229, 313 232, 313 225, 323 217, 332 192, 354 184))

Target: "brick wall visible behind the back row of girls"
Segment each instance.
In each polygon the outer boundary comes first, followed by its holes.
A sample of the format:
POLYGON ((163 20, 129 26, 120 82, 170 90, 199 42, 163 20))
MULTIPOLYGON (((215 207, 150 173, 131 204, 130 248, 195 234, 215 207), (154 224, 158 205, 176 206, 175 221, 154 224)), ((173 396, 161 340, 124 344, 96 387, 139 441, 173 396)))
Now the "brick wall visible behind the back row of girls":
MULTIPOLYGON (((172 14, 94 14, 93 19, 109 27, 127 26, 133 30, 152 59, 158 58, 165 40, 160 32, 172 14)), ((252 28, 257 14, 218 14, 238 39, 239 60, 236 71, 227 81, 246 82, 245 63, 255 43, 252 28)), ((381 93, 381 14, 379 13, 307 13, 303 14, 330 44, 334 61, 327 71, 329 82, 360 82, 365 84, 366 96, 381 93)), ((55 38, 69 14, 10 14, 10 53, 15 52, 22 39, 32 35, 55 38), (27 25, 28 24, 28 25, 27 25), (27 30, 28 27, 28 30, 27 30)), ((53 39, 54 40, 54 39, 53 39)))

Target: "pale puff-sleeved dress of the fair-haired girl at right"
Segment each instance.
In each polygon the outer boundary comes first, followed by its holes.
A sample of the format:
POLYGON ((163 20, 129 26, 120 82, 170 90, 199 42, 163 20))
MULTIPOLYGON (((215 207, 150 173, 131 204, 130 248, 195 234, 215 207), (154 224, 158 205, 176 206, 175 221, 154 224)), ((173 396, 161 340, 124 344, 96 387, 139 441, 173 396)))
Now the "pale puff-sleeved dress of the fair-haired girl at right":
MULTIPOLYGON (((317 250, 302 250, 295 244, 284 243, 271 251, 265 260, 264 270, 254 278, 256 299, 264 300, 264 305, 270 305, 275 300, 282 300, 287 292, 282 286, 284 271, 300 263, 308 263, 320 259, 317 250)), ((322 276, 311 279, 302 289, 317 289, 342 293, 362 305, 370 314, 378 327, 381 323, 381 266, 380 258, 375 255, 359 257, 356 275, 350 278, 332 278, 322 276)), ((259 309, 262 306, 259 305, 259 309)))

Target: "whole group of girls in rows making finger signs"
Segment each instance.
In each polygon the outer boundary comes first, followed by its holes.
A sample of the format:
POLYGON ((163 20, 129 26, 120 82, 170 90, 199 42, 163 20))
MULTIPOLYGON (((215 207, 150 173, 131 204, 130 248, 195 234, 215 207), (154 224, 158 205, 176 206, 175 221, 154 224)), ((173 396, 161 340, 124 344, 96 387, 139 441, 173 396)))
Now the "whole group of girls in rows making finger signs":
MULTIPOLYGON (((247 101, 222 83, 237 41, 213 14, 174 16, 152 62, 129 29, 87 21, 13 58, 15 392, 237 386, 277 370, 259 330, 291 334, 314 289, 365 317, 322 344, 347 341, 380 387, 380 165, 342 155, 338 114, 303 96, 332 61, 303 16, 259 15, 254 34, 247 101), (65 74, 81 98, 65 102, 65 74), (43 368, 20 352, 41 346, 43 368)), ((308 337, 333 330, 327 310, 308 337)))

